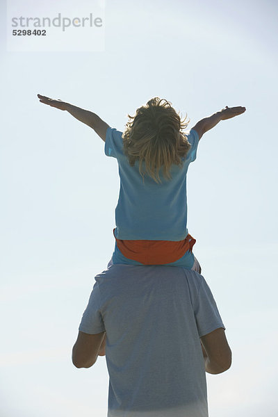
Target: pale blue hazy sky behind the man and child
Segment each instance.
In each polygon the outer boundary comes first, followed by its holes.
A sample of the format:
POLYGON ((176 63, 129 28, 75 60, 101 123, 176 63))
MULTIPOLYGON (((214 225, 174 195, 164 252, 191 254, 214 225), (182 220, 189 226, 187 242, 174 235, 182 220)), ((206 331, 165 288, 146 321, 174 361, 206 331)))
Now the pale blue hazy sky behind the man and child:
POLYGON ((277 416, 277 2, 106 1, 105 51, 88 53, 7 52, 0 7, 1 415, 106 416, 105 359, 70 355, 113 250, 117 164, 40 93, 117 129, 156 95, 190 126, 247 108, 200 142, 188 227, 234 352, 208 376, 210 416, 277 416))

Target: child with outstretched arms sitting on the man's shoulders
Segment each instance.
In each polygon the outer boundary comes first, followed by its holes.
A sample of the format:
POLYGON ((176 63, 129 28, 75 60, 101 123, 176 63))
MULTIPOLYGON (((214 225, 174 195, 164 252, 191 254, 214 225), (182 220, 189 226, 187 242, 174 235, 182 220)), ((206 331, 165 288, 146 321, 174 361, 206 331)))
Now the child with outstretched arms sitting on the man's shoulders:
POLYGON ((200 120, 188 134, 172 104, 154 97, 129 116, 124 133, 99 116, 60 100, 38 95, 40 102, 68 111, 100 136, 107 156, 117 158, 121 180, 115 210, 112 263, 169 265, 197 270, 195 239, 187 229, 186 173, 197 145, 220 120, 245 112, 226 108, 200 120))

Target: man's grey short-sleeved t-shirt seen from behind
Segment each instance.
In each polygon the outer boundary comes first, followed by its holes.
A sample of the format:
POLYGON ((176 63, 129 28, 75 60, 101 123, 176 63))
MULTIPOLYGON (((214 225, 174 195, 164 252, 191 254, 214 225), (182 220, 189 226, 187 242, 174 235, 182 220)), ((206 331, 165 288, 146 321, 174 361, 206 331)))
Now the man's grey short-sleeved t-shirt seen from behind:
POLYGON ((199 338, 223 327, 206 281, 177 266, 112 265, 79 330, 106 331, 109 417, 207 417, 199 338))

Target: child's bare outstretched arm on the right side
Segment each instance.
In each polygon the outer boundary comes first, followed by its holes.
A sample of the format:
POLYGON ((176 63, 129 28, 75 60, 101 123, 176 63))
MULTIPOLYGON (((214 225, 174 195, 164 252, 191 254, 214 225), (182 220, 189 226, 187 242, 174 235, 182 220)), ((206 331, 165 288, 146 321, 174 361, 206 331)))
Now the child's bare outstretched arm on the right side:
POLYGON ((220 120, 227 120, 231 119, 231 117, 235 117, 238 115, 241 115, 246 110, 245 107, 228 107, 222 108, 222 110, 218 111, 217 113, 214 113, 214 115, 211 115, 209 117, 205 117, 204 119, 200 120, 195 124, 195 126, 192 128, 195 131, 197 131, 199 135, 199 139, 202 138, 204 133, 206 133, 208 130, 212 129, 216 124, 220 122, 220 120))

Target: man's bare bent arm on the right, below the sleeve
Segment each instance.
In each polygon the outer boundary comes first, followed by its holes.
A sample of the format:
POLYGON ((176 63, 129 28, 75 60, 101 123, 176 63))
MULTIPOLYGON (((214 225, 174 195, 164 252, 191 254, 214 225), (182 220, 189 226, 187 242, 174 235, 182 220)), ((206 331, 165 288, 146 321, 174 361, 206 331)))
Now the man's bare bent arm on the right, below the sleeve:
POLYGON ((204 363, 207 373, 219 374, 231 366, 231 349, 224 329, 215 329, 201 337, 204 363))

